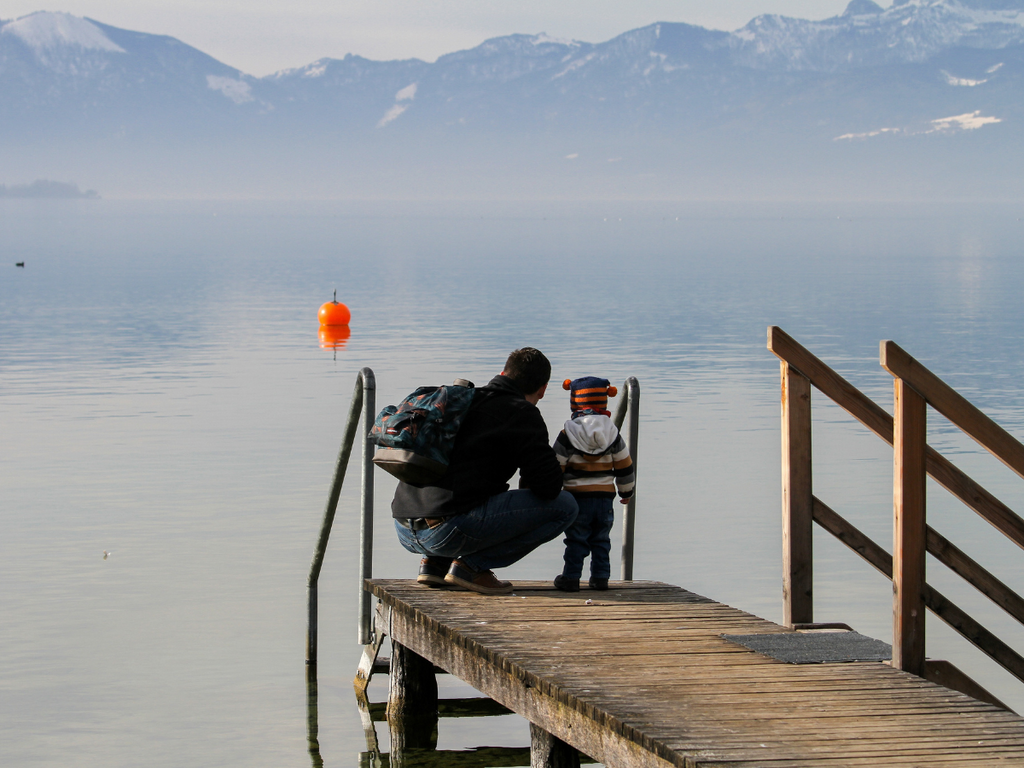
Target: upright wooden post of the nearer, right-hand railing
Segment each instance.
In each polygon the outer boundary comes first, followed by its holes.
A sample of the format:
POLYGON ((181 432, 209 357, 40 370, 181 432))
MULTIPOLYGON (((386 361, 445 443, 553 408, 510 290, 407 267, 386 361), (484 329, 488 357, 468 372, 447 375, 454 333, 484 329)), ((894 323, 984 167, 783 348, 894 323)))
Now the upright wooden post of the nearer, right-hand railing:
POLYGON ((903 379, 893 387, 892 664, 924 677, 927 402, 903 379))

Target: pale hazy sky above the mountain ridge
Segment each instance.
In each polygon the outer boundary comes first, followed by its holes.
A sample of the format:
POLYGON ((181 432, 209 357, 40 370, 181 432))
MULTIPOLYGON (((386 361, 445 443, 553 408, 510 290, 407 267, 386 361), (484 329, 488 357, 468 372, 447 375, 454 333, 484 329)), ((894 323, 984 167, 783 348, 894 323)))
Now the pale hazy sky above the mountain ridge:
MULTIPOLYGON (((847 0, 4 0, 3 18, 66 11, 170 35, 250 75, 324 56, 423 58, 488 37, 546 32, 602 42, 653 22, 735 30, 761 13, 827 18, 847 0)), ((880 0, 888 7, 890 0, 880 0)))

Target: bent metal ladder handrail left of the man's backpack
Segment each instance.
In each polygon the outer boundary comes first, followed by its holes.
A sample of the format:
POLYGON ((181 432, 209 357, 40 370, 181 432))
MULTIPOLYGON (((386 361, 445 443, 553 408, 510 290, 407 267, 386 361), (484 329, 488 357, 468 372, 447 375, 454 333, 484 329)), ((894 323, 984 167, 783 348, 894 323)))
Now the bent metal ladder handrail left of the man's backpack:
POLYGON ((373 570, 373 514, 374 514, 374 472, 373 447, 369 439, 370 425, 376 415, 377 380, 369 368, 359 371, 355 378, 355 390, 348 407, 348 420, 345 423, 345 433, 341 438, 341 449, 338 451, 338 461, 334 467, 334 480, 331 493, 324 508, 324 520, 321 523, 319 536, 316 539, 316 549, 309 565, 309 580, 306 593, 306 664, 316 664, 316 629, 317 629, 317 581, 327 554, 327 544, 331 538, 331 527, 338 511, 338 499, 341 497, 341 486, 345 481, 345 470, 352 454, 352 443, 355 441, 355 430, 359 425, 361 412, 362 434, 362 490, 359 501, 359 603, 358 603, 358 640, 360 645, 370 642, 370 593, 362 589, 362 583, 371 577, 373 570))

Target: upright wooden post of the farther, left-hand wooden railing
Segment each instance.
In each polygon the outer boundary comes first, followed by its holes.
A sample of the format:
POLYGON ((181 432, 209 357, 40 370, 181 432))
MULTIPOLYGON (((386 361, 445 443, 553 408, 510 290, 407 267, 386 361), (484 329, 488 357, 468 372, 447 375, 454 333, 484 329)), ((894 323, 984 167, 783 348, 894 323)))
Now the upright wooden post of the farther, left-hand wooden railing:
POLYGON ((782 623, 814 621, 811 382, 788 362, 782 385, 782 623))

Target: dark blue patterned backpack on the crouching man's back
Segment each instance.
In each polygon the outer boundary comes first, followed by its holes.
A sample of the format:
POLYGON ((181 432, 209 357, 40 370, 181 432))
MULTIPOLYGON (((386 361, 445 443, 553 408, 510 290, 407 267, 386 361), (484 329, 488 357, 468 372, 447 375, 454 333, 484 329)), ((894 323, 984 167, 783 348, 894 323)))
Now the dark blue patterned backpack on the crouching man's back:
POLYGON ((439 480, 475 391, 473 382, 456 379, 452 386, 420 387, 385 408, 370 430, 374 464, 412 485, 439 480))

